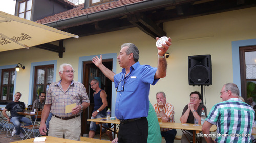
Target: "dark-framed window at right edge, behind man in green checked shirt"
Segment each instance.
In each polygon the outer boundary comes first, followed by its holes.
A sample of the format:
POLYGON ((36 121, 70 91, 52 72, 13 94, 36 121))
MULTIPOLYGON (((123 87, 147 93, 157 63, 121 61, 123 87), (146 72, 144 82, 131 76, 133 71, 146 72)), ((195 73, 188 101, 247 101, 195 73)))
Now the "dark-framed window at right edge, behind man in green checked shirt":
MULTIPOLYGON (((240 47, 241 95, 256 102, 256 46, 240 47)), ((251 102, 251 101, 250 101, 251 102)))

